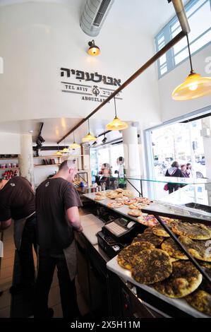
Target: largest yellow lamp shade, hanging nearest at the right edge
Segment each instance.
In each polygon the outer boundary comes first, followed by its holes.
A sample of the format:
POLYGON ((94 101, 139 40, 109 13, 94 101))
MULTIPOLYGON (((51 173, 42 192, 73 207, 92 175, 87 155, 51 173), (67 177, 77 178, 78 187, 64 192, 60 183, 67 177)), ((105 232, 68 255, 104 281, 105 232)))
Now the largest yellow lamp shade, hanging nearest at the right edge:
POLYGON ((211 93, 211 77, 202 77, 198 73, 190 73, 184 83, 177 86, 173 93, 174 100, 191 100, 211 93))

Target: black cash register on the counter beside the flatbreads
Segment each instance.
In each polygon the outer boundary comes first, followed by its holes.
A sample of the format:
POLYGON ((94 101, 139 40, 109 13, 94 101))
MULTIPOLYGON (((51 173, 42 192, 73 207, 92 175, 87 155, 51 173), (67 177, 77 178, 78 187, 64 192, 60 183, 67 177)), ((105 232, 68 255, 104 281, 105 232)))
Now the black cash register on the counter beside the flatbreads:
POLYGON ((116 256, 121 249, 131 244, 138 235, 141 225, 127 218, 116 218, 109 221, 97 232, 97 242, 110 258, 116 256))

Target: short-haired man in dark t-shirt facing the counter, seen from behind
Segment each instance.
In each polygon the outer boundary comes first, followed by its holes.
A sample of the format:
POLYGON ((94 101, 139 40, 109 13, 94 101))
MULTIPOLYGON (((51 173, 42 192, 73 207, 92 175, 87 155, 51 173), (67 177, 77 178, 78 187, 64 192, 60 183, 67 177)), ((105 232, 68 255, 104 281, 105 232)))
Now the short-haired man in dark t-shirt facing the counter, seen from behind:
POLYGON ((49 290, 57 268, 63 316, 77 319, 80 312, 76 297, 76 245, 73 230, 82 231, 78 192, 71 182, 76 175, 76 160, 61 163, 59 171, 37 188, 37 235, 39 266, 35 294, 35 318, 51 317, 49 290))

